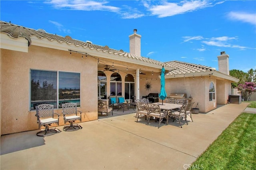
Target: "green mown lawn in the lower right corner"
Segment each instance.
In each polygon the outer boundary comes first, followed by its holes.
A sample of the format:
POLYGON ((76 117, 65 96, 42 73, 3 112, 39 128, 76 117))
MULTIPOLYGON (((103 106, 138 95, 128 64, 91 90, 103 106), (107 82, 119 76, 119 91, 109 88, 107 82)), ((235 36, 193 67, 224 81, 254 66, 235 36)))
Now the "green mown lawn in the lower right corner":
POLYGON ((256 114, 241 113, 189 169, 256 170, 256 114))

